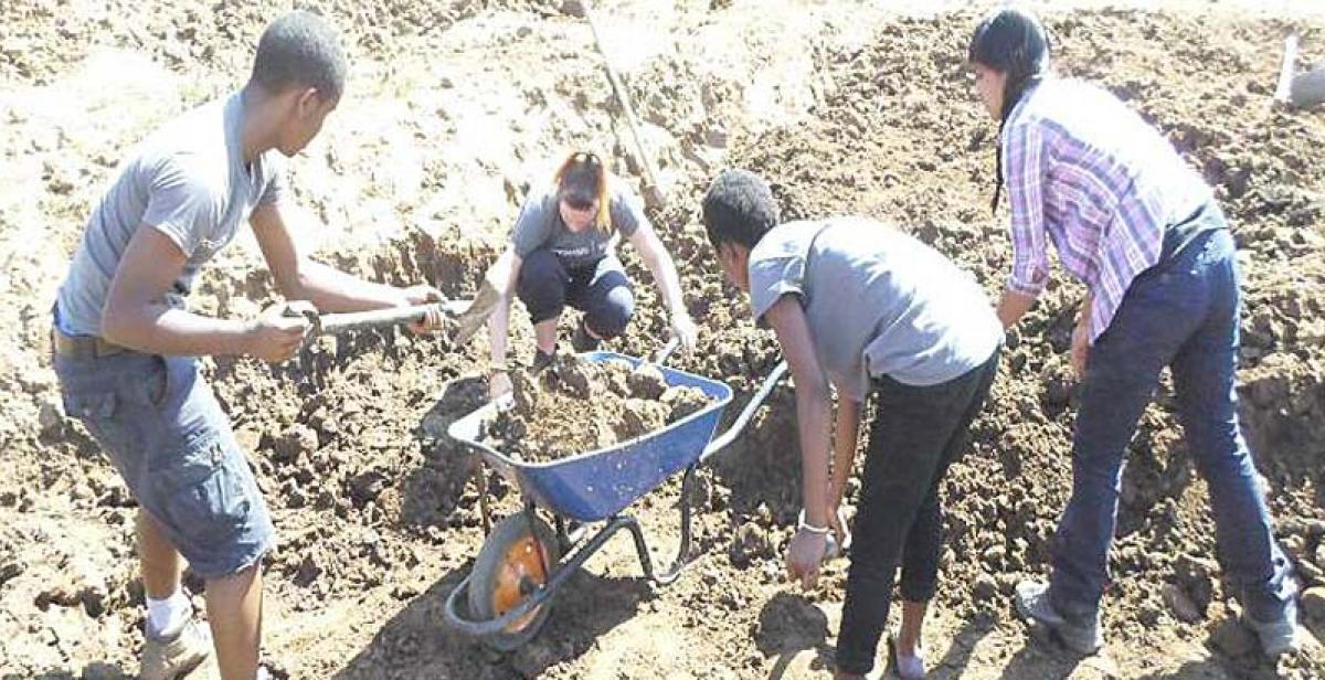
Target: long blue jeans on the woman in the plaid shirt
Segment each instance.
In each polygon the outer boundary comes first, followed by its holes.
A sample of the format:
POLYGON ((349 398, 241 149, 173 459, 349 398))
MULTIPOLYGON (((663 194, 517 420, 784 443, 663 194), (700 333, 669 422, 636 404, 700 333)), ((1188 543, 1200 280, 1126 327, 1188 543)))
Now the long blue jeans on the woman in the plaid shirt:
POLYGON ((1210 486, 1226 575, 1257 620, 1279 620, 1292 611, 1291 566, 1275 543, 1256 465, 1238 424, 1234 239, 1218 207, 1208 205, 1199 219, 1212 221, 1132 282, 1090 347, 1072 441, 1072 498, 1052 546, 1051 602, 1072 620, 1098 611, 1110 577, 1124 452, 1165 366, 1173 370, 1196 471, 1210 486))

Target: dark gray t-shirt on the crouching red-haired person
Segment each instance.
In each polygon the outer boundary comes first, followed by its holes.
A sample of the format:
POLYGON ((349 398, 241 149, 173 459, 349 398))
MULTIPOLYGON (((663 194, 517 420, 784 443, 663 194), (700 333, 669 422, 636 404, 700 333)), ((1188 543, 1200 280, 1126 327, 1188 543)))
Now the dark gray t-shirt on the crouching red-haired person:
POLYGON ((566 266, 583 266, 596 262, 604 255, 616 248, 616 235, 631 237, 635 229, 648 223, 644 216, 644 204, 629 191, 620 186, 613 186, 612 201, 608 207, 612 219, 612 233, 606 233, 598 227, 590 227, 582 232, 572 232, 566 228, 562 220, 562 211, 556 205, 556 187, 535 190, 529 192, 525 207, 519 211, 515 228, 510 233, 510 243, 515 247, 515 255, 521 260, 539 248, 546 248, 555 255, 566 266))

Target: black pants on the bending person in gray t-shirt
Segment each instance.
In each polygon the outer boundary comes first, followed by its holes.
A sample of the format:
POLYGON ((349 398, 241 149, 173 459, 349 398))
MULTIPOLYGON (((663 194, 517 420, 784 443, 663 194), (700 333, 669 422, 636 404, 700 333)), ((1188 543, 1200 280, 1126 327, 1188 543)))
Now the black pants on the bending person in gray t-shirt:
POLYGON ((971 422, 998 374, 998 355, 995 350, 979 367, 929 387, 889 378, 874 383, 877 412, 861 475, 847 602, 837 632, 840 671, 864 675, 873 668, 898 561, 902 599, 934 596, 943 524, 938 486, 966 449, 971 422))

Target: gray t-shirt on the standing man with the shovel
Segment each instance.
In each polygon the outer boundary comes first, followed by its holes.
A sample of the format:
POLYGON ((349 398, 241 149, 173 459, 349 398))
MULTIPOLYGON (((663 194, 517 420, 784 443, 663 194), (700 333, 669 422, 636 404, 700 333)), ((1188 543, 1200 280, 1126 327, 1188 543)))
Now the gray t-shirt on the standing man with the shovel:
POLYGON ((245 167, 241 93, 203 105, 150 135, 87 219, 82 243, 57 298, 60 327, 99 335, 110 281, 139 225, 160 231, 188 257, 167 294, 184 296, 204 262, 231 243, 253 209, 281 200, 285 158, 268 151, 245 167))

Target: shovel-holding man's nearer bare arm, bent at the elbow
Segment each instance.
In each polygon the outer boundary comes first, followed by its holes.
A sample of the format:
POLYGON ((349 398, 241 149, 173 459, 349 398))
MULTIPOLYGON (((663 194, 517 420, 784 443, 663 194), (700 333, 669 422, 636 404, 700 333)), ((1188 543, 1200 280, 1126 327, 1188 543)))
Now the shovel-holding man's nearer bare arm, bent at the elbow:
POLYGON ((187 257, 170 237, 143 224, 134 232, 110 282, 101 334, 151 354, 257 354, 278 361, 303 339, 306 321, 231 321, 166 304, 187 257))

